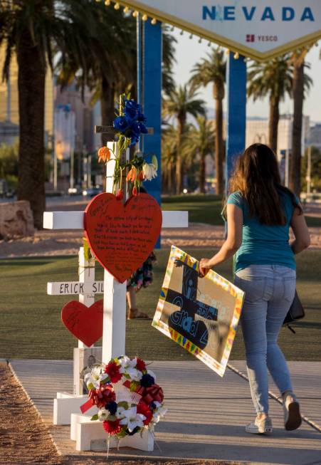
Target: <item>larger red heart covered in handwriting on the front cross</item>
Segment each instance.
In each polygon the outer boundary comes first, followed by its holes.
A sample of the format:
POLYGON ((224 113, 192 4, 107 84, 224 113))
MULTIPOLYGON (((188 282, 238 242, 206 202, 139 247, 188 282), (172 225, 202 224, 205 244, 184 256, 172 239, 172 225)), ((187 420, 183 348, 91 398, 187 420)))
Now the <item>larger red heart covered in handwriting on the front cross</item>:
POLYGON ((162 210, 154 197, 138 194, 125 204, 98 194, 85 209, 85 236, 106 270, 123 283, 142 266, 159 237, 162 210))

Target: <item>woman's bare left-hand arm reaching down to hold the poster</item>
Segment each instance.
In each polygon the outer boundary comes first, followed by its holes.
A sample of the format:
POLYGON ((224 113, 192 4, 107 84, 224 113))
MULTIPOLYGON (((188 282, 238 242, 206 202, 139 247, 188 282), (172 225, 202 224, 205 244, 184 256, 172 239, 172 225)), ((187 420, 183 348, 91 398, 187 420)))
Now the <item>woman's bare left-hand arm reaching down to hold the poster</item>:
POLYGON ((228 234, 227 239, 221 246, 220 251, 212 256, 212 258, 202 258, 199 263, 199 271, 203 276, 206 275, 209 268, 222 263, 231 258, 242 244, 242 228, 243 228, 243 211, 240 207, 234 204, 228 204, 226 209, 228 234))

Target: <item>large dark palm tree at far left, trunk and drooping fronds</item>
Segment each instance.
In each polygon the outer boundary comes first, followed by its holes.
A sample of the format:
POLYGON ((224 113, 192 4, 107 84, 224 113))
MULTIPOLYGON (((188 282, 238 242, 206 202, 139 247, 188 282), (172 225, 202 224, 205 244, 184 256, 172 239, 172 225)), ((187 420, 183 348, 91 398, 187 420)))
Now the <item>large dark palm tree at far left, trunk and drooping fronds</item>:
POLYGON ((91 4, 85 0, 1 1, 0 46, 6 47, 4 79, 9 78, 13 53, 18 62, 19 185, 18 199, 31 204, 33 221, 42 228, 45 197, 44 91, 46 68, 53 51, 63 62, 82 61, 91 4))

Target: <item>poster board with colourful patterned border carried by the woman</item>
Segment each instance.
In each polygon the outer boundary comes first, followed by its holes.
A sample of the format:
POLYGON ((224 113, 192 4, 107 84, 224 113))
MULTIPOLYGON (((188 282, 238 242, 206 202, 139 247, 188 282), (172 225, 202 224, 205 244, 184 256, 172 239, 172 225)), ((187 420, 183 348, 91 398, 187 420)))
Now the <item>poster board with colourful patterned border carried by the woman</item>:
POLYGON ((224 375, 241 315, 244 292, 172 246, 152 325, 224 375))

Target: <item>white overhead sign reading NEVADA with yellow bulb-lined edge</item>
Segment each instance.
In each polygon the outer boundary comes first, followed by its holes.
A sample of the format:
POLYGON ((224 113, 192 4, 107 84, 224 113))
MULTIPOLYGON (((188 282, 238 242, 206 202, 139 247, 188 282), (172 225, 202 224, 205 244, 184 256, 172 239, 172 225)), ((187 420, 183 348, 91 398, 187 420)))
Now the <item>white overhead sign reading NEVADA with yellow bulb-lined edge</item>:
POLYGON ((121 0, 120 3, 261 61, 321 38, 320 0, 121 0))

